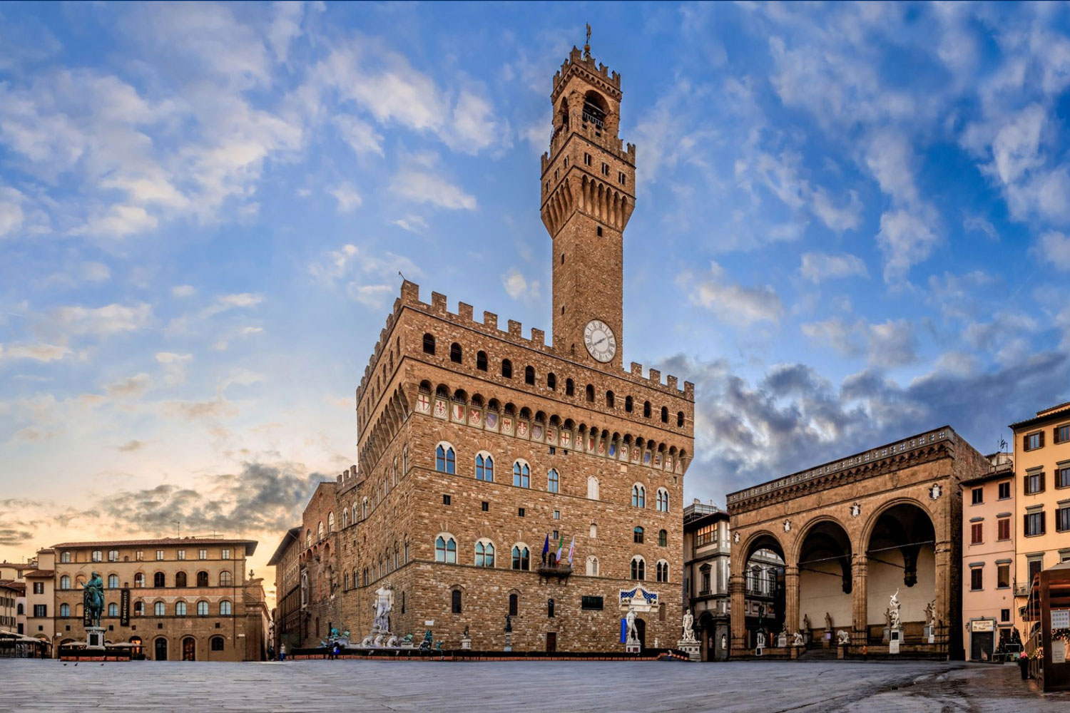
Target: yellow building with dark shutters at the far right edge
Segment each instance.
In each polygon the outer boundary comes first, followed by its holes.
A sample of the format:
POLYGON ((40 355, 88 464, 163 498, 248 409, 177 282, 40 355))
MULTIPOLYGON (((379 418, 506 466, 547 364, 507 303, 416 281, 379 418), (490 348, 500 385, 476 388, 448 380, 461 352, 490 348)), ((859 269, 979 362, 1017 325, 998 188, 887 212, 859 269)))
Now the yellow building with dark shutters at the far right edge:
POLYGON ((1033 577, 1070 560, 1070 402, 1011 423, 1014 431, 1014 622, 1022 633, 1033 577))

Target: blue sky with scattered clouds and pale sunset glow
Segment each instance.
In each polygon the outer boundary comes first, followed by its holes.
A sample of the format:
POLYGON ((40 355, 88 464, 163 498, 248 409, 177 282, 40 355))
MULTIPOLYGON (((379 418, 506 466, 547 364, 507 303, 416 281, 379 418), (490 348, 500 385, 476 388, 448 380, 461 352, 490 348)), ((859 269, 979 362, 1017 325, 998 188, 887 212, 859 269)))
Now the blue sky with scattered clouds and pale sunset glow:
POLYGON ((0 558, 263 568, 355 462, 398 273, 549 332, 587 21, 637 145, 624 359, 696 384, 688 501, 1070 399, 1066 4, 6 3, 0 558))

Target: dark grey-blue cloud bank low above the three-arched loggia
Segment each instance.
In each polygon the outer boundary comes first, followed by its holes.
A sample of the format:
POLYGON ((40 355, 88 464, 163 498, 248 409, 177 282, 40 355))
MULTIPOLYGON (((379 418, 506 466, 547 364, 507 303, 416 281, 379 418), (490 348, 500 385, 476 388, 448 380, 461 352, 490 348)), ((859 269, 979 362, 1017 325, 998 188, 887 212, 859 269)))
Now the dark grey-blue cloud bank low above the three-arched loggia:
POLYGON ((655 366, 694 382, 687 497, 720 505, 742 487, 945 424, 992 452, 1010 440, 1008 423, 1070 398, 1061 352, 974 374, 934 371, 906 386, 875 369, 836 386, 800 363, 774 367, 755 384, 724 360, 677 355, 655 366))

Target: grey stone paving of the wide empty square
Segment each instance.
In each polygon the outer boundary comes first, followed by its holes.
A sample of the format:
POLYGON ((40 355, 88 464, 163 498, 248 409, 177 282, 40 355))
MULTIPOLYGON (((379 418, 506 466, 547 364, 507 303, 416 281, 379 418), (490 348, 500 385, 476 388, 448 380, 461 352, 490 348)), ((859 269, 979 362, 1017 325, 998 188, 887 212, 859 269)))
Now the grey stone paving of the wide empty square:
POLYGON ((86 710, 1067 713, 1070 694, 961 663, 0 660, 0 712, 86 710))

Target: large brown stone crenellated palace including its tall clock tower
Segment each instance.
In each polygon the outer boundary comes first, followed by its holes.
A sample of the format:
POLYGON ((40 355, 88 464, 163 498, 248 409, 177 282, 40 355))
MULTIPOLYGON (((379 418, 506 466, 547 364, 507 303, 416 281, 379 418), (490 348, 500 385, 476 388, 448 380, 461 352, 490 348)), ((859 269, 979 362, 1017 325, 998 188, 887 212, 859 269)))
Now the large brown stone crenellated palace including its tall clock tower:
POLYGON ((617 136, 621 77, 574 48, 550 98, 551 343, 402 283, 356 391, 360 467, 306 508, 300 615, 279 640, 358 640, 386 588, 392 631, 446 648, 467 631, 473 650, 503 649, 508 616, 515 651, 623 651, 629 605, 645 646, 679 638, 694 392, 624 368, 636 148, 617 136))

